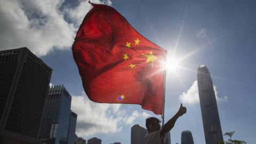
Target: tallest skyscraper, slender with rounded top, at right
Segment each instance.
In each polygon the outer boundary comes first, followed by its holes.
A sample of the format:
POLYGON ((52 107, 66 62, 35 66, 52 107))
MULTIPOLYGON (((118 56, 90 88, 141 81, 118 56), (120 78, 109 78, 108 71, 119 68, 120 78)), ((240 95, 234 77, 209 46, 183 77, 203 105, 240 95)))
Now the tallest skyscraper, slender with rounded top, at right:
POLYGON ((212 78, 209 70, 204 65, 197 70, 197 83, 205 143, 216 144, 219 141, 223 141, 223 136, 212 78))

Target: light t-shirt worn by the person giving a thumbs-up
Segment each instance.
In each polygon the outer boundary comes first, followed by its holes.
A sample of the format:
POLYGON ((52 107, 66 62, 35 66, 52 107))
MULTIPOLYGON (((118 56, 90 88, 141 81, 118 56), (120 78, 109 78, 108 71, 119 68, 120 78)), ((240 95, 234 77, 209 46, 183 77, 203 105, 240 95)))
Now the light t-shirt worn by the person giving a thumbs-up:
MULTIPOLYGON (((162 139, 160 138, 160 132, 161 132, 161 129, 159 131, 147 133, 145 136, 145 144, 162 144, 162 139)), ((164 142, 165 142, 165 139, 164 139, 164 142)))

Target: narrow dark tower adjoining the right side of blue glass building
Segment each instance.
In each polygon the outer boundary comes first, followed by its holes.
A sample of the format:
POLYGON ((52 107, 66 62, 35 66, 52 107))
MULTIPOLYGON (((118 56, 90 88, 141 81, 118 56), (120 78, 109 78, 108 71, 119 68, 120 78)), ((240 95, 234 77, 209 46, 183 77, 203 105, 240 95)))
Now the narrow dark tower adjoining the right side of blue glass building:
POLYGON ((69 119, 69 128, 68 128, 68 143, 71 143, 71 144, 75 142, 76 120, 77 120, 77 114, 71 111, 70 119, 69 119))

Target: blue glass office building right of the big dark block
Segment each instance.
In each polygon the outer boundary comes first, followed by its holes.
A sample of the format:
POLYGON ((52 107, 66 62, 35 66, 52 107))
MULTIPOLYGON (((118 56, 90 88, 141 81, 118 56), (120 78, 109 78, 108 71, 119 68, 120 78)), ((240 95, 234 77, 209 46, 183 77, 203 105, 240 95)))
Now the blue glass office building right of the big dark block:
POLYGON ((67 143, 68 135, 70 135, 70 141, 74 140, 77 116, 75 113, 70 113, 70 106, 71 95, 65 87, 63 85, 52 86, 46 97, 39 143, 67 143))

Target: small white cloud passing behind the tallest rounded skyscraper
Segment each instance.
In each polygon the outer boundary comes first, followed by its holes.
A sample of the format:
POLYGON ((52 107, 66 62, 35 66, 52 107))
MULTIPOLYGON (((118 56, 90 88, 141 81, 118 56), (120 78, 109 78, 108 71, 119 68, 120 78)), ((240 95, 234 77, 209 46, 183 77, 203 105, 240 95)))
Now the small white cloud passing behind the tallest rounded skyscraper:
MULTIPOLYGON (((217 101, 228 99, 226 95, 222 98, 218 97, 218 91, 215 85, 213 85, 213 90, 215 92, 215 97, 217 101)), ((182 94, 180 94, 179 99, 181 100, 182 103, 198 103, 199 94, 198 94, 197 81, 193 82, 192 86, 187 90, 187 92, 182 92, 182 94)))

